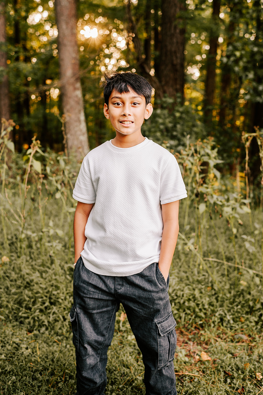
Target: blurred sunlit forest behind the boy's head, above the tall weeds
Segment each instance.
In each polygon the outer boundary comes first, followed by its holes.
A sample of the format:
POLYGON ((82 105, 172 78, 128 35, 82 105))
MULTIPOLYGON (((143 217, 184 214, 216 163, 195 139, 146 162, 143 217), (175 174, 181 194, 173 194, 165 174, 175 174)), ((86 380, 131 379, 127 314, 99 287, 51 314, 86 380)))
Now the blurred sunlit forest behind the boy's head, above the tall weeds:
MULTIPOLYGON (((102 73, 131 71, 154 88, 144 134, 178 152, 187 135, 212 136, 233 173, 242 131, 263 128, 262 18, 262 0, 0 1, 0 113, 16 124, 15 150, 33 136, 64 150, 65 119, 79 158, 112 138, 102 73)), ((256 139, 249 155, 258 184, 256 139)))

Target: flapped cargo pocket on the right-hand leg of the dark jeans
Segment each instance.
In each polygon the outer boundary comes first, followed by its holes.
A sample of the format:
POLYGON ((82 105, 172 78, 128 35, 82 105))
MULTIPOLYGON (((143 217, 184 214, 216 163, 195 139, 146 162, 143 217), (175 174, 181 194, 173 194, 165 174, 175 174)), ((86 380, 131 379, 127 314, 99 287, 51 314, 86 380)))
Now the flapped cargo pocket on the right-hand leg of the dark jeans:
POLYGON ((158 369, 169 366, 173 361, 176 350, 176 321, 173 313, 168 314, 163 320, 157 321, 158 340, 158 369))

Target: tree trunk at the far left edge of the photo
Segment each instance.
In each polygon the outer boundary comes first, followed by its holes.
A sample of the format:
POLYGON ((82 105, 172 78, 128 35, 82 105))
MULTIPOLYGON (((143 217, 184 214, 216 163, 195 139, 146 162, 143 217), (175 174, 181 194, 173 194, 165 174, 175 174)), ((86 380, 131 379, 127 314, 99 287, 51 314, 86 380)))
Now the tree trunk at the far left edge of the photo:
MULTIPOLYGON (((4 77, 0 80, 0 120, 10 119, 10 103, 9 103, 9 84, 7 71, 7 54, 6 54, 6 18, 5 3, 0 2, 0 68, 4 69, 4 77)), ((11 132, 9 138, 12 138, 11 132)))

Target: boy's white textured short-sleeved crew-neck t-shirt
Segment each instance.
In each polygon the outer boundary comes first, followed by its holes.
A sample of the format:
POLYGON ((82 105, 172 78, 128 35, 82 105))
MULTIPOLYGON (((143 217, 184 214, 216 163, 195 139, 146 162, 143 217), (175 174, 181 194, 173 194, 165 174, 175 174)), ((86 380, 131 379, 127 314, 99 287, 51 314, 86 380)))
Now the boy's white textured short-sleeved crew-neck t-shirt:
POLYGON ((95 203, 81 252, 90 271, 107 276, 140 273, 158 262, 161 204, 186 198, 175 157, 145 138, 130 148, 106 141, 83 159, 73 198, 95 203))

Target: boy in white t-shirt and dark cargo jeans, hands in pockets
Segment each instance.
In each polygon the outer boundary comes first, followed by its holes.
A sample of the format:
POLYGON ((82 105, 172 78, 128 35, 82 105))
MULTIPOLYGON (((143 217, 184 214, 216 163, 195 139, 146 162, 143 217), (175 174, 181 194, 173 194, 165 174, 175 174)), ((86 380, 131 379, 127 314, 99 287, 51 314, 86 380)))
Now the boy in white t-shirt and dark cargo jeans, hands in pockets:
POLYGON ((77 395, 104 393, 120 303, 142 353, 146 394, 177 394, 168 284, 179 200, 187 195, 175 157, 141 134, 151 93, 140 75, 105 76, 104 115, 116 137, 85 156, 73 191, 77 395))

